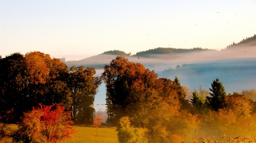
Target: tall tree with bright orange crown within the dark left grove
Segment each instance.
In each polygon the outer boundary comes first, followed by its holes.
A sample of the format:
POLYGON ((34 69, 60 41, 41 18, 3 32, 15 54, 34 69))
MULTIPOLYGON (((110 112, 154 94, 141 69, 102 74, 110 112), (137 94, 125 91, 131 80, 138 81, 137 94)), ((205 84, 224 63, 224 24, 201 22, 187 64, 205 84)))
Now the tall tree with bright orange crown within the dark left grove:
POLYGON ((68 73, 65 63, 39 51, 27 53, 24 61, 29 72, 27 83, 30 107, 38 103, 62 103, 66 108, 71 106, 71 93, 65 80, 68 73))

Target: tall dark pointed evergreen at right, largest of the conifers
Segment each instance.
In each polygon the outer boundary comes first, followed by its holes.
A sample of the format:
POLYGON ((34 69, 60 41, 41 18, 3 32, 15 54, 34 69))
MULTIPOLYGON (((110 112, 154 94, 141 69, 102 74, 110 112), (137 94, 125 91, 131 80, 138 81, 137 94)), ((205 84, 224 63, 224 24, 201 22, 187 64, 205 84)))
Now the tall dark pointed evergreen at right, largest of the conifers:
POLYGON ((208 106, 213 110, 218 110, 225 107, 225 88, 219 78, 216 78, 211 83, 210 96, 206 97, 208 100, 208 106))

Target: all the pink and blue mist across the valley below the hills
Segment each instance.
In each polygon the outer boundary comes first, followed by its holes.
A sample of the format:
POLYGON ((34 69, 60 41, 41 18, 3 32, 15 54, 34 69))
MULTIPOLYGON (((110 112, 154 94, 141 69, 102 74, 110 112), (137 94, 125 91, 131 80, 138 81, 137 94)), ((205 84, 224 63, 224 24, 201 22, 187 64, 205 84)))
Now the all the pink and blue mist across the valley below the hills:
MULTIPOLYGON (((97 75, 103 72, 103 66, 109 64, 116 55, 98 55, 90 59, 90 65, 96 67, 97 75)), ((182 86, 191 90, 202 85, 209 90, 212 81, 219 78, 227 93, 256 89, 256 48, 237 47, 229 50, 202 51, 174 54, 152 54, 151 58, 129 56, 134 63, 155 70, 159 77, 174 80, 175 76, 182 86)), ((82 64, 82 60, 79 61, 82 64)))

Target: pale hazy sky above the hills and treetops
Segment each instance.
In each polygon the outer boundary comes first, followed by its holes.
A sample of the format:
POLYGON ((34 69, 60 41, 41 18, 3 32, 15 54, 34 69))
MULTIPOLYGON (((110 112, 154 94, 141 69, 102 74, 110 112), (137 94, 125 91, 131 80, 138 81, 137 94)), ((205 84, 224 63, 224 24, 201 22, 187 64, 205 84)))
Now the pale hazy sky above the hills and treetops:
POLYGON ((223 49, 256 34, 255 0, 0 2, 2 57, 41 51, 80 60, 114 49, 223 49))

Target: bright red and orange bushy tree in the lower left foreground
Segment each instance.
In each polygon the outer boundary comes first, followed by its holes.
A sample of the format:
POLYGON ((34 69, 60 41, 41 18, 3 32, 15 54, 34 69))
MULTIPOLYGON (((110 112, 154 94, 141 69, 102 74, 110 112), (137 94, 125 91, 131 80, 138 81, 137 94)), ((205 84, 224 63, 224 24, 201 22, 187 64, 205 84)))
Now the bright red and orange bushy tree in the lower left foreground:
POLYGON ((59 104, 44 106, 39 104, 24 114, 17 132, 13 135, 14 141, 23 142, 58 142, 72 137, 76 130, 70 126, 70 112, 59 104))

